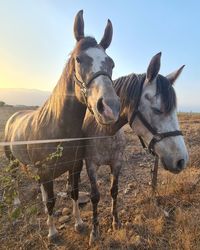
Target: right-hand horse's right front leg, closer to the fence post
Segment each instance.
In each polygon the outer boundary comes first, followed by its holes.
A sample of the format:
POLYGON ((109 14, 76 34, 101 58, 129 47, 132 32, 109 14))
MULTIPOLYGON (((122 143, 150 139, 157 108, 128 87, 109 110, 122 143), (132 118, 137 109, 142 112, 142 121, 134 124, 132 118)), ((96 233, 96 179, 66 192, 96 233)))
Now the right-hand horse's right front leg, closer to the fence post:
POLYGON ((119 229, 121 226, 121 223, 118 218, 118 210, 117 210, 118 180, 119 180, 120 170, 121 170, 121 164, 119 164, 119 161, 117 163, 114 162, 111 165, 110 193, 112 197, 111 214, 113 217, 113 220, 112 220, 113 230, 119 229))

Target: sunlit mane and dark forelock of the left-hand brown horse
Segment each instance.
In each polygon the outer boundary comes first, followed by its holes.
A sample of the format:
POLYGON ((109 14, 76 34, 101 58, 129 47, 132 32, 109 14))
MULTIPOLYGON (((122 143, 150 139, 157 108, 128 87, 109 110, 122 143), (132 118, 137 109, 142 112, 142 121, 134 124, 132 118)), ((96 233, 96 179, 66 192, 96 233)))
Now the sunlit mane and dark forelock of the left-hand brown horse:
POLYGON ((38 109, 37 123, 38 125, 47 125, 49 122, 58 120, 62 113, 63 107, 67 99, 74 100, 74 56, 81 51, 91 47, 96 47, 97 41, 93 37, 84 37, 77 42, 74 50, 70 53, 70 58, 67 61, 62 75, 55 86, 51 96, 45 104, 38 109))

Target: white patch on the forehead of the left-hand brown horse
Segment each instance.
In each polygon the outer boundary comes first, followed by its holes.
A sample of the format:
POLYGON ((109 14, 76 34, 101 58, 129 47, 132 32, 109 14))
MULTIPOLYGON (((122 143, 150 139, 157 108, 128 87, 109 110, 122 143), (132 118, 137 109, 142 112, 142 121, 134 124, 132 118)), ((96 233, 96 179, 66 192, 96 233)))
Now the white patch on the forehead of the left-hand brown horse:
POLYGON ((107 57, 104 50, 99 48, 89 48, 86 50, 86 54, 93 59, 92 72, 96 73, 101 70, 102 63, 107 57))

